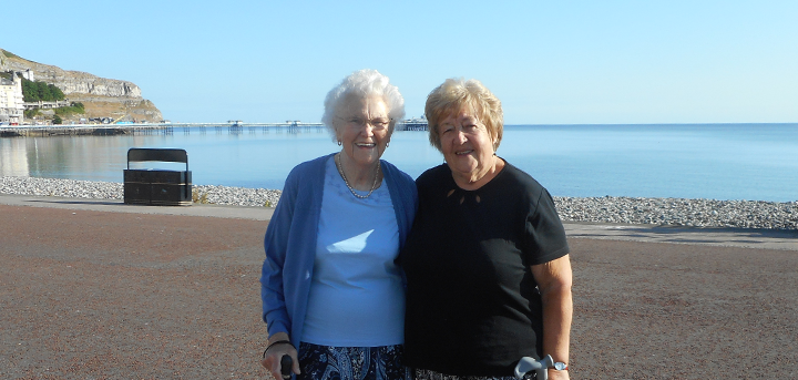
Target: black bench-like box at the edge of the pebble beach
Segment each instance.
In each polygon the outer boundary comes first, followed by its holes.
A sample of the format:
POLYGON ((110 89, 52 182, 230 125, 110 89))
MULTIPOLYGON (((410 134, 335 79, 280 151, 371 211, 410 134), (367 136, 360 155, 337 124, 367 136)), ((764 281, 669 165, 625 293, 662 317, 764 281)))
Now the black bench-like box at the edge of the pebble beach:
POLYGON ((132 147, 124 170, 124 203, 134 205, 191 206, 191 171, 185 150, 132 147), (132 170, 131 162, 185 163, 185 171, 132 170))

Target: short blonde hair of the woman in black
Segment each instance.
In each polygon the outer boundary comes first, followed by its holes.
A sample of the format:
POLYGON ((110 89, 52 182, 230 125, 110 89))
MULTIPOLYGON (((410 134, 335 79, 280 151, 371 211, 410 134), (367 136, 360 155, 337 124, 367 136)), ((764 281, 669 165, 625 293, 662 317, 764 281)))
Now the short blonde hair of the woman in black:
POLYGON ((430 144, 441 150, 438 123, 451 113, 471 107, 474 116, 488 129, 493 141, 493 150, 499 148, 504 132, 504 113, 501 101, 488 88, 475 79, 450 78, 427 96, 424 115, 429 125, 430 144))

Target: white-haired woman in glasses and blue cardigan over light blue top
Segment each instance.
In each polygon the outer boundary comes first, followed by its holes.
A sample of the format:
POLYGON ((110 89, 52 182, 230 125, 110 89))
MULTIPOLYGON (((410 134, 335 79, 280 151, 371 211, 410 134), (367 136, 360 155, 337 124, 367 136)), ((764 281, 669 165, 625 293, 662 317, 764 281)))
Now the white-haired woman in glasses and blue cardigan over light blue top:
POLYGON ((262 364, 297 379, 403 379, 405 287, 398 257, 412 225, 413 179, 380 156, 405 100, 361 70, 325 100, 340 152, 297 165, 266 229, 262 364))

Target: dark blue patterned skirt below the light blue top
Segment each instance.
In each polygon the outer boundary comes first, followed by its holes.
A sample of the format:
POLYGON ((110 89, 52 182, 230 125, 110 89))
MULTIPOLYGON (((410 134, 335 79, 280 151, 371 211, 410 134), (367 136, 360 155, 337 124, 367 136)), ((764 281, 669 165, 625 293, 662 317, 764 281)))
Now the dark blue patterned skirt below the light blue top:
POLYGON ((330 347, 299 345, 297 380, 409 380, 402 346, 330 347))

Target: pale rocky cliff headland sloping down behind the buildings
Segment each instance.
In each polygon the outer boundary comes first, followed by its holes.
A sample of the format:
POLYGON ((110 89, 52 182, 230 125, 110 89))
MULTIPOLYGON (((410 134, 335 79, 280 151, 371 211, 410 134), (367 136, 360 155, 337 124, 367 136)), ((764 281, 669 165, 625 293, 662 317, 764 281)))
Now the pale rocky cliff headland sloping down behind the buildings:
POLYGON ((71 102, 81 102, 85 115, 75 117, 113 117, 126 121, 163 120, 161 111, 142 97, 141 89, 132 82, 100 78, 80 71, 42 64, 17 57, 0 49, 0 71, 25 72, 35 81, 52 83, 63 91, 71 102))

